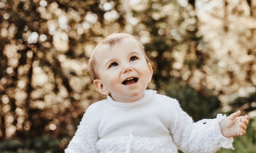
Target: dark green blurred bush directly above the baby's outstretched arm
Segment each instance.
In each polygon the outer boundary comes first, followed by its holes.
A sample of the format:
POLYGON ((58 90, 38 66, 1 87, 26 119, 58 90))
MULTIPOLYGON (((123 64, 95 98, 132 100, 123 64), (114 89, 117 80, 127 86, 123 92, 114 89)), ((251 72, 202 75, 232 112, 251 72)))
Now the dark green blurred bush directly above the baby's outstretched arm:
POLYGON ((169 82, 166 85, 165 93, 167 96, 177 99, 181 104, 181 108, 192 116, 194 121, 204 118, 215 118, 216 110, 221 103, 207 89, 204 92, 198 92, 188 85, 175 85, 174 82, 169 82))

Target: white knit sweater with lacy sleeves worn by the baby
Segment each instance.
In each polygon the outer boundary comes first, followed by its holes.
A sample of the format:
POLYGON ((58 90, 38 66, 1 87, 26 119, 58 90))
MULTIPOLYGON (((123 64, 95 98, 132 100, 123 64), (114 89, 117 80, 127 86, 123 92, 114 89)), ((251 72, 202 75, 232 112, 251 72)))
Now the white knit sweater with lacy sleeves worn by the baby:
POLYGON ((219 129, 223 118, 194 123, 177 100, 153 90, 129 103, 107 96, 87 108, 65 153, 215 152, 232 148, 219 129))

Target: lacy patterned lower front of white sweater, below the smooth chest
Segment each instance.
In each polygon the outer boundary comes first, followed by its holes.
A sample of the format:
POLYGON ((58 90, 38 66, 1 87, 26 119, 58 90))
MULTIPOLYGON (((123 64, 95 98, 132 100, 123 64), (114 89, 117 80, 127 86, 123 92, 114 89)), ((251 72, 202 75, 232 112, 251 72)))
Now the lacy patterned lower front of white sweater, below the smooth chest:
MULTIPOLYGON (((98 140, 96 146, 100 153, 125 153, 129 135, 111 136, 98 140)), ((177 153, 171 135, 141 136, 134 135, 131 153, 177 153)))

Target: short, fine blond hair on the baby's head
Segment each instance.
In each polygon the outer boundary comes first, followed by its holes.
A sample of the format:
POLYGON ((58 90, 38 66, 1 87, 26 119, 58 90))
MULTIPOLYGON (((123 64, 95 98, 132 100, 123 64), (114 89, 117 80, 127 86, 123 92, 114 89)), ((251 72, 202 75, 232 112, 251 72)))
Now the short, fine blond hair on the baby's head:
POLYGON ((98 74, 97 74, 96 61, 95 61, 95 52, 97 52, 100 49, 100 47, 102 47, 103 45, 110 45, 111 47, 113 47, 116 43, 118 43, 123 38, 133 38, 133 39, 137 40, 143 54, 145 55, 146 62, 149 63, 149 59, 145 54, 144 46, 139 42, 137 37, 135 37, 131 34, 128 34, 128 33, 114 33, 114 34, 111 34, 108 37, 105 37, 104 39, 102 39, 98 43, 98 45, 94 48, 93 52, 90 55, 90 58, 88 60, 88 65, 89 65, 89 73, 93 80, 99 79, 98 74))

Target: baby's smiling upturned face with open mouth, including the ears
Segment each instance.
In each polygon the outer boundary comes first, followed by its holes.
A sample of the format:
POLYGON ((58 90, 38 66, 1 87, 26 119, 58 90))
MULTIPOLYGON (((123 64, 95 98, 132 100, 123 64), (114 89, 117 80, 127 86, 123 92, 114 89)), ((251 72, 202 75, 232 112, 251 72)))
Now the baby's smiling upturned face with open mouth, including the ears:
POLYGON ((110 94, 120 102, 132 102, 144 96, 153 71, 137 40, 123 38, 113 47, 102 46, 95 60, 99 79, 94 84, 101 94, 110 94))

